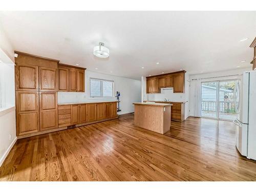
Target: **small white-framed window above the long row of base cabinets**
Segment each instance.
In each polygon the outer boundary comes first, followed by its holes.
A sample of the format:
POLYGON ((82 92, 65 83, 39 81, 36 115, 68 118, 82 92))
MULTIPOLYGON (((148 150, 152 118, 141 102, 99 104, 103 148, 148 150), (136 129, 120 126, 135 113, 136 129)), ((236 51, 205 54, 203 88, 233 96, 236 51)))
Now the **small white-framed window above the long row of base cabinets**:
POLYGON ((90 97, 114 97, 114 81, 90 78, 90 97))

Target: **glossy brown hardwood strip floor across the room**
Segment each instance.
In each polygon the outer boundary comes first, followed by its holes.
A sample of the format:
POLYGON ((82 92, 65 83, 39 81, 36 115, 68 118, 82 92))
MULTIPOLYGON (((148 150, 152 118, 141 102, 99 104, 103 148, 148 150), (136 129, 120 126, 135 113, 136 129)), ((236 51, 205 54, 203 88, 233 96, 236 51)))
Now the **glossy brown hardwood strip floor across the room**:
POLYGON ((165 135, 132 114, 19 139, 1 181, 255 181, 256 162, 236 150, 232 122, 189 117, 165 135))

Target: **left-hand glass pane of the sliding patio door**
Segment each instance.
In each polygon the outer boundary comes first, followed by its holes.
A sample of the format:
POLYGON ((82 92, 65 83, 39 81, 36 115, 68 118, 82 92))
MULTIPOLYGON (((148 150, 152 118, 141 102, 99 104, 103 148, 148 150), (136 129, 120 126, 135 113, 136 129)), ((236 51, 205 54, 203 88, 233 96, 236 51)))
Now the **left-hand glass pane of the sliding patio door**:
POLYGON ((217 82, 202 82, 202 117, 217 118, 217 82))

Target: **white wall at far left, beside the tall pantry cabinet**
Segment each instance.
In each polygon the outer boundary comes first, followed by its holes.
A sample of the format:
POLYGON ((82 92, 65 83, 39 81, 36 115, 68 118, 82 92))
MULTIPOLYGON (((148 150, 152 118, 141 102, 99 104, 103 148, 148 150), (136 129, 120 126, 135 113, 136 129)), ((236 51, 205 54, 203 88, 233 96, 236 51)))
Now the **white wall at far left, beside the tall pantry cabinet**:
POLYGON ((14 87, 14 51, 0 24, 0 78, 3 90, 1 98, 3 107, 0 109, 0 166, 4 162, 12 146, 17 140, 15 120, 15 87, 14 87))

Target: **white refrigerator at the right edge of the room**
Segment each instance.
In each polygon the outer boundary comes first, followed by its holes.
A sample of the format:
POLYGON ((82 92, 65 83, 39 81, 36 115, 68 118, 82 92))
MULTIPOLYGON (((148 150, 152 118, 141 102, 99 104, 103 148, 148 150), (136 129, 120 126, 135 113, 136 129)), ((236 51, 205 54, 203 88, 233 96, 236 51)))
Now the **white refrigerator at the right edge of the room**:
POLYGON ((234 92, 237 111, 236 146, 241 155, 256 160, 256 71, 246 71, 234 92))

